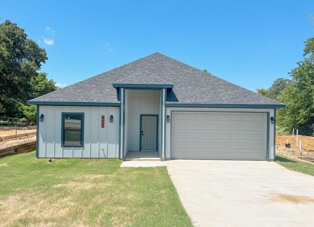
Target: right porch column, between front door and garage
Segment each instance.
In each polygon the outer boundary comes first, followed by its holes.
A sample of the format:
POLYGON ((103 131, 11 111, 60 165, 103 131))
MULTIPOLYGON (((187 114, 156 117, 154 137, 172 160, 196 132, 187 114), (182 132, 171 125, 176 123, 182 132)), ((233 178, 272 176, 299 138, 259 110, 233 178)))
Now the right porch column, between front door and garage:
POLYGON ((161 89, 161 100, 160 100, 160 158, 162 161, 165 160, 166 152, 166 88, 161 89))

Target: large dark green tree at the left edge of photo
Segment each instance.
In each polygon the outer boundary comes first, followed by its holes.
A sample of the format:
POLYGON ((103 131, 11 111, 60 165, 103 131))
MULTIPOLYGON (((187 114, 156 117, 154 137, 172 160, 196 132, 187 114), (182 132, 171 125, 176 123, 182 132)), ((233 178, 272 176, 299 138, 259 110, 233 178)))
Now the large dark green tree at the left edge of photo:
POLYGON ((31 93, 30 80, 47 60, 46 50, 27 38, 23 28, 9 20, 0 24, 0 111, 16 115, 31 93))

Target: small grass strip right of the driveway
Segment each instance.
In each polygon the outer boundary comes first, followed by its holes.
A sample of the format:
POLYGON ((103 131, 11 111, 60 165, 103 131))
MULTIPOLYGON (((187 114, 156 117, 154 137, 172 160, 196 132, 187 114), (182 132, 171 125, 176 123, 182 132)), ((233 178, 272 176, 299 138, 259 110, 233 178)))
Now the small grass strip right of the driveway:
POLYGON ((314 164, 276 154, 276 162, 289 170, 314 176, 314 164))

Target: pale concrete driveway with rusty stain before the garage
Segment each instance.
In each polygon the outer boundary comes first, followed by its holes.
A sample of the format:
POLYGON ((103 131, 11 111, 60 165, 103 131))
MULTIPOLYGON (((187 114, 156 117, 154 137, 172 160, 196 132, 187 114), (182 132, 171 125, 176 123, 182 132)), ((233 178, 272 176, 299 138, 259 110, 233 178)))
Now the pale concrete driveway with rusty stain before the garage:
POLYGON ((266 161, 172 160, 194 226, 314 226, 314 177, 266 161))

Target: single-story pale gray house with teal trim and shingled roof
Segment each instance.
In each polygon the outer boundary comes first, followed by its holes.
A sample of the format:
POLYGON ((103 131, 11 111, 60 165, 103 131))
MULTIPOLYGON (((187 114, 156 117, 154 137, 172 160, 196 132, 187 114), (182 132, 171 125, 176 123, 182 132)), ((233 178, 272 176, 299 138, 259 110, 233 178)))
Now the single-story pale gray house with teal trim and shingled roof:
POLYGON ((158 52, 27 103, 37 105, 39 158, 161 160, 273 161, 285 107, 158 52))

